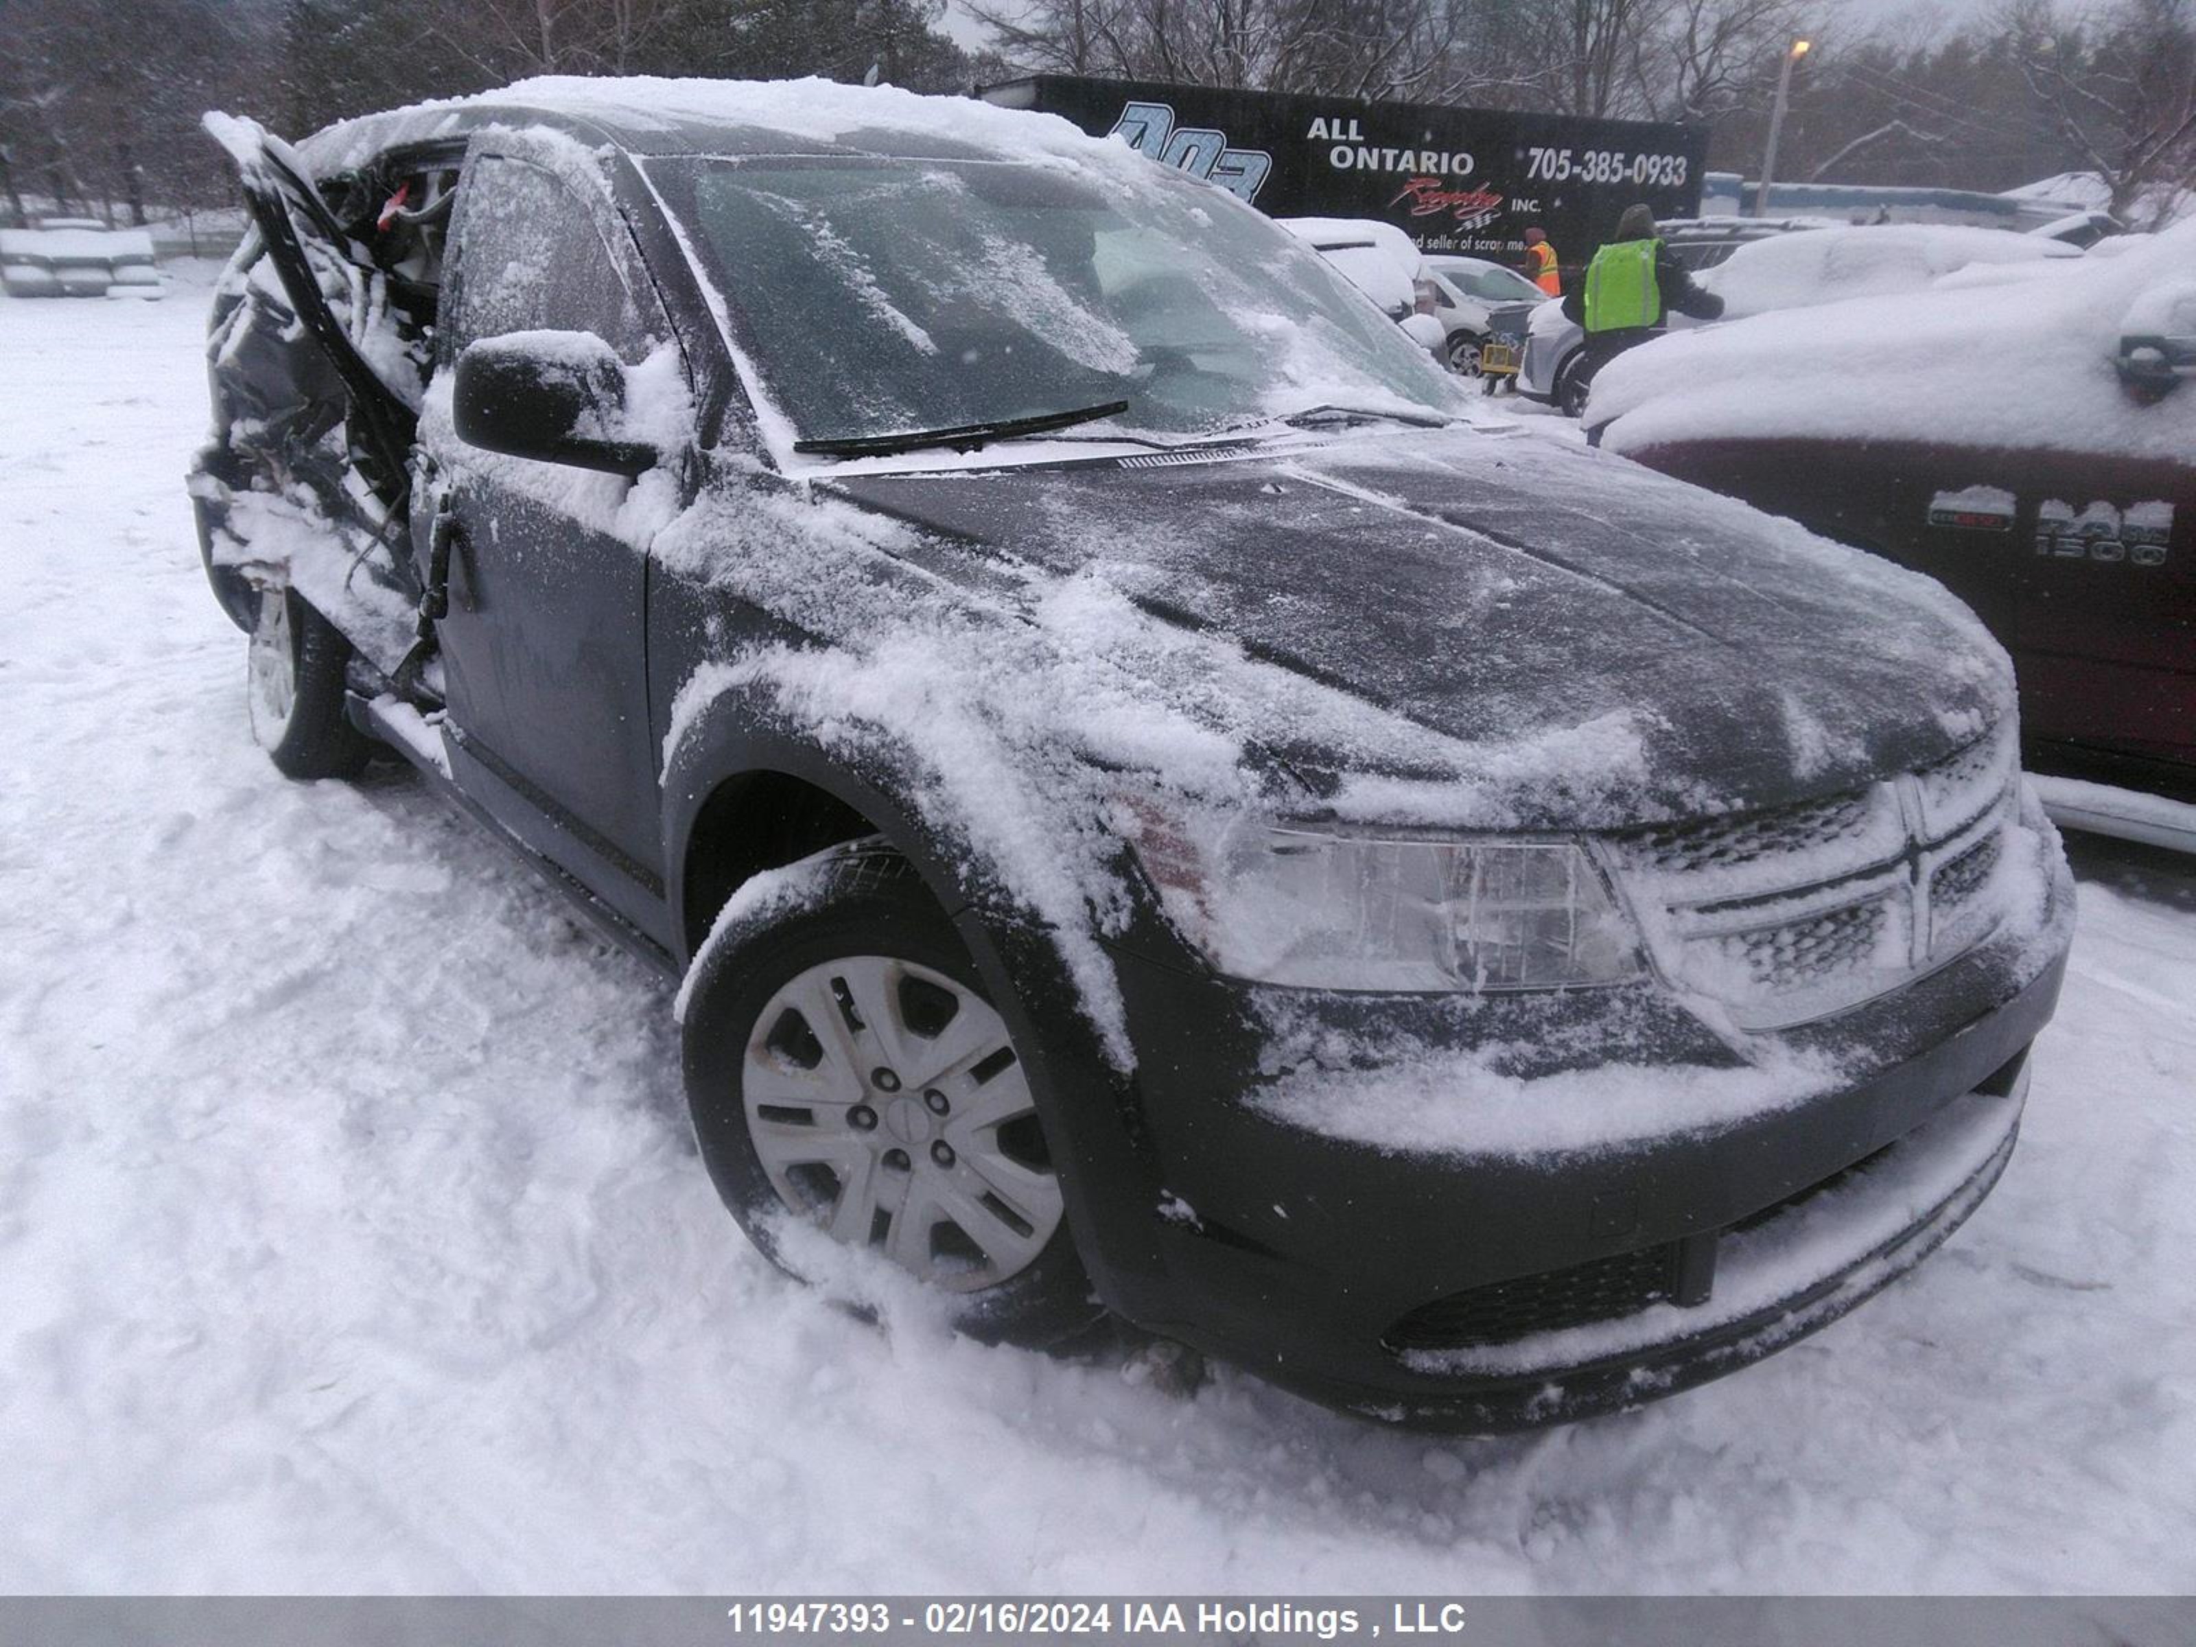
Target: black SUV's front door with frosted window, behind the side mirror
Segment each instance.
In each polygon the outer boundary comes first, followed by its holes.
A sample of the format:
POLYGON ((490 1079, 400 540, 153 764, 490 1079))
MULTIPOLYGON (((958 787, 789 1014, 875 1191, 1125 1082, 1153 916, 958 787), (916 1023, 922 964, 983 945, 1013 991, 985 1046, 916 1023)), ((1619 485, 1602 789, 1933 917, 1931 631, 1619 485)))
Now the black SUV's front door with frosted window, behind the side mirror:
MULTIPOLYGON (((509 332, 593 332, 637 367, 685 367, 608 189, 483 138, 450 226, 437 378, 509 332), (665 354, 668 351, 668 354, 665 354)), ((430 397, 415 542, 455 525, 437 624, 459 782, 529 845, 643 931, 663 909, 657 751, 648 729, 648 542, 672 477, 466 446, 430 397)))

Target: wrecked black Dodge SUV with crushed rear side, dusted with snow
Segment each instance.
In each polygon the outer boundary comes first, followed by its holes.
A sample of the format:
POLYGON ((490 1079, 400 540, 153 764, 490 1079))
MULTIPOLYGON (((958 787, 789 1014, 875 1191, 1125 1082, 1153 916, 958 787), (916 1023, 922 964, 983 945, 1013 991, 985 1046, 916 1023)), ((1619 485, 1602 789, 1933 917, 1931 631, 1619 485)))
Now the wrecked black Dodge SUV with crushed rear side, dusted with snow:
POLYGON ((1792 1342, 2005 1166, 2071 887, 1937 584, 1469 422, 1052 116, 211 125, 259 740, 402 755, 679 979, 786 1269, 1493 1430, 1792 1342))

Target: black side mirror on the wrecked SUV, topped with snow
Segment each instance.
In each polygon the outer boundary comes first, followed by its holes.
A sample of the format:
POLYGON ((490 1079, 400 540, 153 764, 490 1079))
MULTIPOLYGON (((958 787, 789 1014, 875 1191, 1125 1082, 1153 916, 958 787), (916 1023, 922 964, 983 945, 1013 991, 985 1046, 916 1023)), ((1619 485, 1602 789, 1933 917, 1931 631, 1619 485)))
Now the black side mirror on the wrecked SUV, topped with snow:
POLYGON ((626 362, 593 332, 507 332, 468 343, 450 393, 468 446, 540 463, 641 474, 659 461, 626 437, 626 362))

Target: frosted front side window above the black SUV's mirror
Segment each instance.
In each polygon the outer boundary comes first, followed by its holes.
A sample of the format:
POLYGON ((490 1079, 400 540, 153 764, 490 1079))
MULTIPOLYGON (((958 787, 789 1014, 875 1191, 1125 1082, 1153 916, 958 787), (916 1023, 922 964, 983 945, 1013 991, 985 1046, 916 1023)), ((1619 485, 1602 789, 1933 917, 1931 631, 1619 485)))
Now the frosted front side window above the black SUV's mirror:
POLYGON ((595 332, 626 362, 670 336, 654 292, 595 213, 540 167, 481 156, 457 202, 441 360, 505 332, 595 332))

